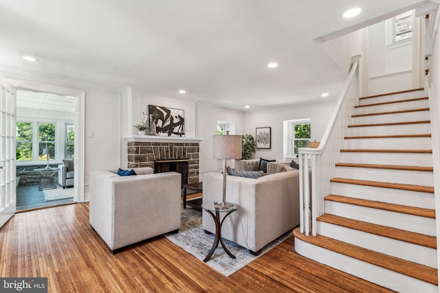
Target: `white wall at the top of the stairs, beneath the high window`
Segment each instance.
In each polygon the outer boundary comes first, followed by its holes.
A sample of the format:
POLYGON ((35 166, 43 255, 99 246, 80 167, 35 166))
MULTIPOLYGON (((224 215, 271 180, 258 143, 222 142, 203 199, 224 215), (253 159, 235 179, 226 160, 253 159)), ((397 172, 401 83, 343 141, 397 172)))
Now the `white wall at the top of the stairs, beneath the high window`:
POLYGON ((388 45, 390 25, 382 21, 369 27, 369 95, 412 89, 412 44, 388 45))

